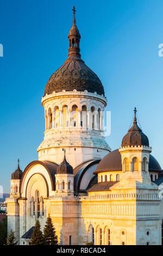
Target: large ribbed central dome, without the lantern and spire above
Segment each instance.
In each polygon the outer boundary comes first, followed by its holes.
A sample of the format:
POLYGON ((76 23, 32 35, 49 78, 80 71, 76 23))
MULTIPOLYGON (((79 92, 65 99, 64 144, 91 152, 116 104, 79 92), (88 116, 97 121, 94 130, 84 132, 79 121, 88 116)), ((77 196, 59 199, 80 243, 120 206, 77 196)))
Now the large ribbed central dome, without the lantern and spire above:
POLYGON ((104 95, 104 88, 98 76, 82 60, 65 62, 55 71, 46 84, 44 95, 74 89, 104 95))

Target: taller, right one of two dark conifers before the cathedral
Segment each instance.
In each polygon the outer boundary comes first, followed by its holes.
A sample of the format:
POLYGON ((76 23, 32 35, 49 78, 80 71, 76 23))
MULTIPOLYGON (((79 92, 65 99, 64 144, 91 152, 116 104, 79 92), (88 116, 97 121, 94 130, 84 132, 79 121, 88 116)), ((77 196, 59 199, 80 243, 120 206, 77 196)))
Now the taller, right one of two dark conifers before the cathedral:
POLYGON ((45 245, 58 245, 57 235, 55 234, 55 228, 50 215, 48 215, 46 225, 43 229, 43 237, 45 239, 45 245))

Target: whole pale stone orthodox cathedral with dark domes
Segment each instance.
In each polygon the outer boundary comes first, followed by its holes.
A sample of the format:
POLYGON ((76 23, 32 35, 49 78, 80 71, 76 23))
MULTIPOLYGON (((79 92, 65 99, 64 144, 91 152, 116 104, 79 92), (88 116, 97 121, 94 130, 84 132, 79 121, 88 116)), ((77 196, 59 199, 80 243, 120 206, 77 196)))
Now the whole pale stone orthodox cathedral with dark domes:
POLYGON ((120 148, 111 151, 106 143, 104 87, 81 58, 75 13, 68 58, 41 99, 39 160, 23 172, 18 161, 11 174, 8 232, 28 245, 36 219, 43 229, 50 214, 60 245, 161 245, 163 172, 137 125, 136 108, 120 148))

